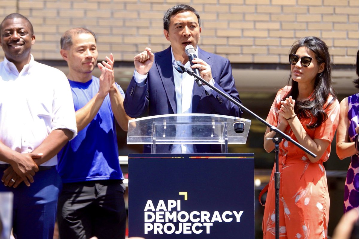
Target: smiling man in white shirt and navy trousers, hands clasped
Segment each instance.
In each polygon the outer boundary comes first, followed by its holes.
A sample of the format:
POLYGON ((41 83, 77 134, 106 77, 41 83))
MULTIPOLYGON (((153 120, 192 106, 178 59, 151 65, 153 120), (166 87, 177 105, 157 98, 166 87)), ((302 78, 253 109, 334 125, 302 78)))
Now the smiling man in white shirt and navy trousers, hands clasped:
POLYGON ((17 239, 52 239, 61 190, 56 154, 77 134, 70 86, 64 73, 34 61, 35 35, 23 15, 6 16, 0 35, 0 192, 14 193, 17 239))

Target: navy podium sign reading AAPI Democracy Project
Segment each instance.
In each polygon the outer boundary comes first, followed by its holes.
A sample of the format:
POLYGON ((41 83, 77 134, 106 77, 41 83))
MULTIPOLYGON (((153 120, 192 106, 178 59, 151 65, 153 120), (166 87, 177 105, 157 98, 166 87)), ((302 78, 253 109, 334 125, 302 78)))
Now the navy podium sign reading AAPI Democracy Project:
POLYGON ((129 236, 255 238, 254 157, 129 154, 129 236))

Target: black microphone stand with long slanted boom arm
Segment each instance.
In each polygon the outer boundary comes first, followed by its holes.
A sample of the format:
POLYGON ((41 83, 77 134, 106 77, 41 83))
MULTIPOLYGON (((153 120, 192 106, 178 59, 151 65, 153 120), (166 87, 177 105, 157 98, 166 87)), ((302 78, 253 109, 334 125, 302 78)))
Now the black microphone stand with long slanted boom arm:
POLYGON ((275 188, 275 239, 279 239, 279 188, 280 188, 280 172, 279 172, 279 164, 278 164, 278 158, 279 158, 279 143, 284 139, 288 140, 289 142, 292 142, 294 145, 302 149, 304 152, 308 153, 312 157, 317 157, 314 153, 303 147, 301 144, 296 142, 294 139, 292 139, 289 135, 283 133, 281 130, 277 129, 275 126, 269 124, 267 121, 262 119, 260 116, 253 113, 251 110, 247 109, 247 107, 240 104, 237 100, 234 100, 229 95, 225 94, 221 90, 219 90, 217 87, 212 86, 207 81, 205 81, 201 76, 197 75, 191 68, 185 68, 182 66, 182 64, 177 63, 177 66, 175 66, 176 70, 180 73, 187 72, 189 75, 194 76, 198 80, 200 80, 202 83, 205 83, 205 85, 209 86, 214 91, 218 92, 218 94, 225 97, 227 100, 232 102, 233 104, 240 107, 243 111, 246 113, 252 115, 255 119, 259 120, 263 124, 265 124, 267 127, 269 127, 270 131, 274 131, 276 134, 273 138, 267 138, 267 140, 272 139, 275 145, 275 173, 274 173, 274 188, 275 188))

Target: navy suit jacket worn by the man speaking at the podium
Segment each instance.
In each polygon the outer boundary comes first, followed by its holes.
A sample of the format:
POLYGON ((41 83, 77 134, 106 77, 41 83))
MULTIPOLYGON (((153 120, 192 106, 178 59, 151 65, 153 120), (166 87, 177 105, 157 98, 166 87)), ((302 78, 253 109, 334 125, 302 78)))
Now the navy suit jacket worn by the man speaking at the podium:
MULTIPOLYGON (((138 86, 132 77, 125 94, 123 106, 126 113, 138 117, 148 108, 149 115, 176 114, 176 92, 174 87, 171 47, 154 54, 154 63, 148 72, 144 86, 138 86)), ((238 102, 239 94, 234 84, 232 67, 228 59, 213 53, 198 49, 198 58, 204 60, 211 67, 215 87, 238 102)), ((192 113, 220 114, 241 117, 242 110, 213 91, 207 95, 204 87, 194 83, 192 93, 192 113)), ((150 147, 145 146, 145 153, 150 153, 150 147)), ((156 153, 170 153, 171 145, 157 145, 156 153)), ((220 145, 194 145, 195 153, 220 153, 220 145)))

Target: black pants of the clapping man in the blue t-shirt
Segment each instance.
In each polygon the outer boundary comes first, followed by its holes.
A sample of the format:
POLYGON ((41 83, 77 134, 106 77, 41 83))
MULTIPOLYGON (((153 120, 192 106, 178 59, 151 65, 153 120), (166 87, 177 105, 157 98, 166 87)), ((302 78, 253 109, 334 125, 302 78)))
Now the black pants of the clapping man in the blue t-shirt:
POLYGON ((57 205, 61 239, 124 239, 126 208, 122 180, 64 183, 57 205))

